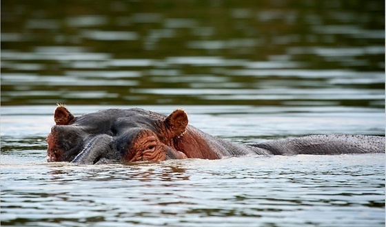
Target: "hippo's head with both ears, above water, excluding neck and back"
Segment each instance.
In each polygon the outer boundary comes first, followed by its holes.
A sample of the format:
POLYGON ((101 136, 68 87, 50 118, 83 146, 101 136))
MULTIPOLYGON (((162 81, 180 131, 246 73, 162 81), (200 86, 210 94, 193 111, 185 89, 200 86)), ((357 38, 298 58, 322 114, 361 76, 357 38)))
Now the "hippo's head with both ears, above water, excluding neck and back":
POLYGON ((106 109, 74 116, 62 105, 54 112, 48 134, 47 161, 95 164, 181 159, 174 148, 183 136, 187 114, 177 109, 163 116, 144 109, 106 109))

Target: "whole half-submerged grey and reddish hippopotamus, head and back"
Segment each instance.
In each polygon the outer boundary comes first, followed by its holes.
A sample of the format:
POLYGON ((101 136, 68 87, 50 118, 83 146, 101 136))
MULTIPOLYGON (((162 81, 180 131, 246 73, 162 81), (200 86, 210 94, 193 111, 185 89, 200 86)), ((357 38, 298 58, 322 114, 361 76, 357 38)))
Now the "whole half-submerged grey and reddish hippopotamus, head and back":
POLYGON ((48 162, 103 164, 241 155, 385 153, 383 136, 314 135, 237 144, 189 125, 183 109, 169 116, 139 108, 74 116, 59 105, 54 122, 46 139, 48 162))

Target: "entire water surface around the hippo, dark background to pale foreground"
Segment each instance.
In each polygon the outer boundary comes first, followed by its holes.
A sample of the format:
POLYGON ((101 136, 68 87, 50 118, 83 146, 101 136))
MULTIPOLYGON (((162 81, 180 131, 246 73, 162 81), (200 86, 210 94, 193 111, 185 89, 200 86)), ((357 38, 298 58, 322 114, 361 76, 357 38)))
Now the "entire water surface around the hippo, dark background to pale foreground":
POLYGON ((385 155, 45 163, 54 104, 234 142, 385 135, 384 1, 1 1, 2 226, 385 226, 385 155))

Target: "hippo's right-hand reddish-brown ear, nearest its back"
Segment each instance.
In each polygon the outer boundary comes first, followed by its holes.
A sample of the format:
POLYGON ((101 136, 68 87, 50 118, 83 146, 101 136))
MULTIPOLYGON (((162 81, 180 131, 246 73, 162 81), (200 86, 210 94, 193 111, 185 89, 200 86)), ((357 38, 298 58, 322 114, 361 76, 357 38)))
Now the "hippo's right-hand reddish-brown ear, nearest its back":
POLYGON ((176 109, 164 122, 167 129, 172 131, 172 138, 181 136, 187 127, 187 114, 183 109, 176 109))

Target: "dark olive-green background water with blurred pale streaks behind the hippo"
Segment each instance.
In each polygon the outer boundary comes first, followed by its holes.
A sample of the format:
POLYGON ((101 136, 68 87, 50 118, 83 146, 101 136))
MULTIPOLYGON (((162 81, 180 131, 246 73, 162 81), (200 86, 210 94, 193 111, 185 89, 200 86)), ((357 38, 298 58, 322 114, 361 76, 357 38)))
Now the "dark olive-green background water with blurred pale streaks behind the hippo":
POLYGON ((2 6, 3 105, 385 106, 382 1, 2 6))

